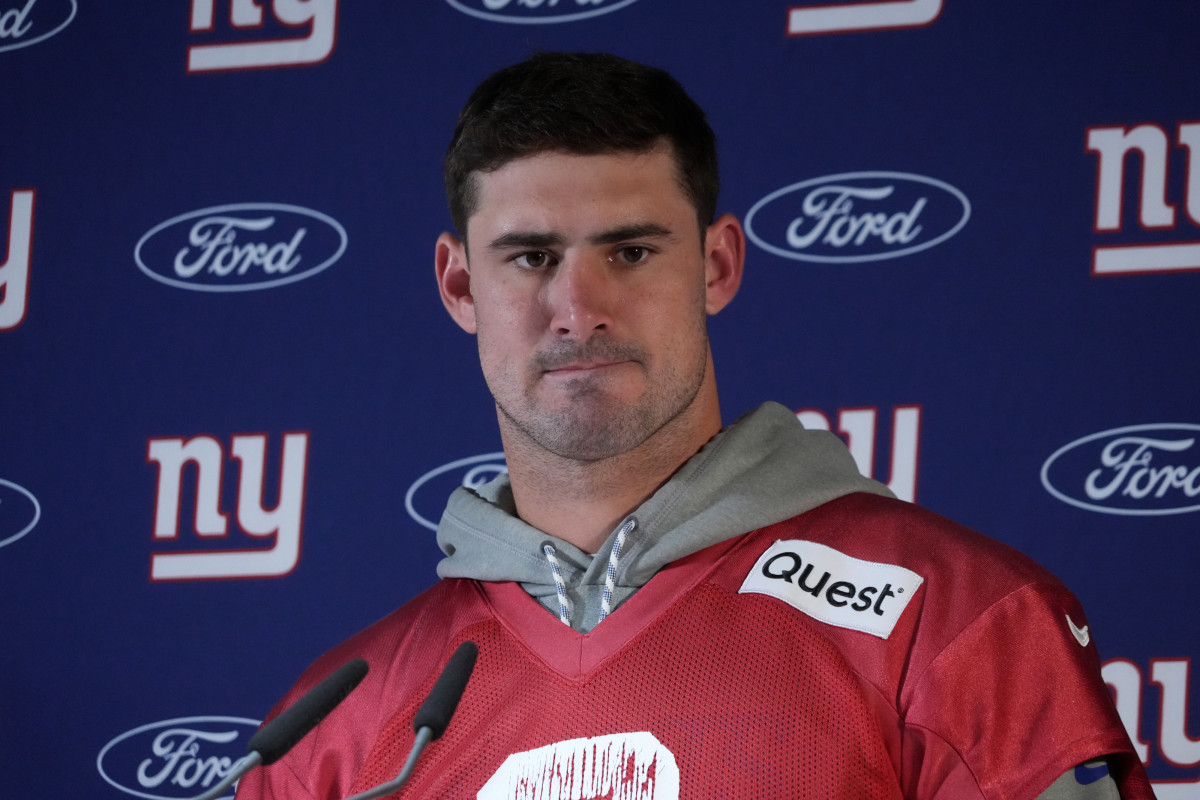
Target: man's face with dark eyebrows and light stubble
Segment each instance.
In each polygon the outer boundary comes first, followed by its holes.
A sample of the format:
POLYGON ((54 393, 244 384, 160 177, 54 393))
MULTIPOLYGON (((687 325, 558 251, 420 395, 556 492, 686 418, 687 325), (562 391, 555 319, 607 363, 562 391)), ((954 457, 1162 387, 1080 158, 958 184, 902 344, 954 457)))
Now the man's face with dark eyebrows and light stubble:
POLYGON ((694 411, 715 309, 670 148, 544 154, 475 180, 456 319, 478 333, 505 446, 598 461, 694 411))

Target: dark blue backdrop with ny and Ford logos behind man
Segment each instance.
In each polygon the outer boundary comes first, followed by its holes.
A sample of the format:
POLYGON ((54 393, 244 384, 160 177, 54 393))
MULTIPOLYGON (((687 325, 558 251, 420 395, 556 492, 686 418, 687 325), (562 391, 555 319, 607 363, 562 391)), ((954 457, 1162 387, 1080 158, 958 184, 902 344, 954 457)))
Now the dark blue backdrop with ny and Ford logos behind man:
POLYGON ((436 579, 503 469, 442 154, 493 70, 602 49, 720 137, 726 421, 1051 569, 1200 798, 1200 5, 796 2, 0 0, 0 786, 196 794, 436 579))

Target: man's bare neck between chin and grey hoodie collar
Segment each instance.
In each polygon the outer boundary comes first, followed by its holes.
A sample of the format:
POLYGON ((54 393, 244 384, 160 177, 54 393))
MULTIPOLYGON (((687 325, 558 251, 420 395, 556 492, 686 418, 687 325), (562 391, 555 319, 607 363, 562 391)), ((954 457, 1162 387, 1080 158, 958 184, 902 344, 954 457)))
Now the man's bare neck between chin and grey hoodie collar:
POLYGON ((629 452, 582 462, 550 453, 505 426, 500 434, 517 516, 595 553, 617 525, 721 429, 715 387, 629 452))

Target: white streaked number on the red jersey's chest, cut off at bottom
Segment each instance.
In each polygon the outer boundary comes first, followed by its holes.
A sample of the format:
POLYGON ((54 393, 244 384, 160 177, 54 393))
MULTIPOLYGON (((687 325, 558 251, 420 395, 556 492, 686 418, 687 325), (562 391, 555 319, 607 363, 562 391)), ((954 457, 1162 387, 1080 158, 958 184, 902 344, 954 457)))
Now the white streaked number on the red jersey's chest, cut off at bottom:
POLYGON ((568 739, 504 759, 478 800, 678 800, 679 766, 648 732, 568 739))

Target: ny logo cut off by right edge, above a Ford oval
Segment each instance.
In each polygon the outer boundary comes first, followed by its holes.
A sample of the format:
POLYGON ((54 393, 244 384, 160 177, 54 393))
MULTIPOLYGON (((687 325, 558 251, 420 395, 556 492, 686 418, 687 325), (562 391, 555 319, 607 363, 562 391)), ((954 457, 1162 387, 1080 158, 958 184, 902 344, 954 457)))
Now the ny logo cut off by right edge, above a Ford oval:
MULTIPOLYGON (((1200 227, 1200 122, 1181 122, 1176 144, 1187 151, 1187 180, 1182 191, 1187 216, 1200 227)), ((1146 233, 1172 231, 1182 223, 1176 204, 1169 203, 1170 139, 1157 125, 1093 127, 1087 130, 1087 150, 1098 157, 1096 168, 1096 233, 1118 235, 1126 222, 1126 162, 1138 151, 1141 163, 1138 224, 1146 233)), ((1187 236, 1200 231, 1189 229, 1187 236)), ((1138 275, 1200 270, 1200 240, 1098 245, 1092 251, 1092 275, 1138 275)))

